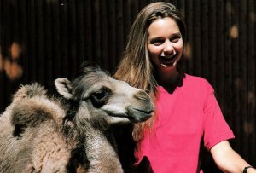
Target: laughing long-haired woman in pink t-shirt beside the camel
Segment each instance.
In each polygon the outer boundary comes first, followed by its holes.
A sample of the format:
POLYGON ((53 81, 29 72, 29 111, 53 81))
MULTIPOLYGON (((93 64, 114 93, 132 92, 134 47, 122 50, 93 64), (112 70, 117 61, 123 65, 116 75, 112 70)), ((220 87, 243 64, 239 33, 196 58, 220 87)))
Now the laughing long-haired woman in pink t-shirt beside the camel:
POLYGON ((183 73, 185 26, 176 7, 151 3, 137 15, 115 77, 148 91, 154 118, 133 129, 137 164, 148 158, 155 173, 202 172, 201 140, 224 172, 256 172, 230 147, 234 138, 212 86, 183 73))

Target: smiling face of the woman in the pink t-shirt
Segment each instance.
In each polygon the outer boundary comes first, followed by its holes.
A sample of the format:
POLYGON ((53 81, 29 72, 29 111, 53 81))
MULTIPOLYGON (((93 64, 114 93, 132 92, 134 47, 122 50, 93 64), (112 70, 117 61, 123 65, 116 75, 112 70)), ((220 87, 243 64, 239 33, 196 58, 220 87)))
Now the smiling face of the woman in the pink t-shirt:
POLYGON ((176 69, 183 54, 183 38, 170 17, 154 20, 148 27, 148 55, 160 72, 176 69))

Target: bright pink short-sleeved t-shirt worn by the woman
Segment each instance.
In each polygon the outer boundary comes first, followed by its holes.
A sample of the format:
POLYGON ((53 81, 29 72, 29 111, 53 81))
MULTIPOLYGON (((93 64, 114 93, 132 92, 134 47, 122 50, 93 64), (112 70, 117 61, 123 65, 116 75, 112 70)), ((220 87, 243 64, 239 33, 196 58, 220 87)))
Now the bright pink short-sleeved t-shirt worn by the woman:
POLYGON ((220 141, 234 138, 204 78, 187 75, 183 86, 169 94, 158 87, 158 118, 154 132, 145 131, 138 145, 138 163, 148 157, 154 173, 202 172, 199 168, 201 140, 209 150, 220 141))

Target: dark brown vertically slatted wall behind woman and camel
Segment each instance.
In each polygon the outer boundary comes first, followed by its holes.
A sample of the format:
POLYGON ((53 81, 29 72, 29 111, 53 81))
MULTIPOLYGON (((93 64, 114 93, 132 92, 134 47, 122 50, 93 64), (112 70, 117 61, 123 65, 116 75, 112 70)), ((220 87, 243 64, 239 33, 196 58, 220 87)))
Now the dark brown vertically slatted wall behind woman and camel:
MULTIPOLYGON (((83 61, 114 72, 137 12, 153 0, 0 0, 0 112, 20 84, 49 92, 83 61)), ((186 72, 207 78, 236 139, 256 166, 255 0, 176 0, 187 24, 186 72)), ((172 141, 170 141, 172 142, 172 141)), ((218 172, 207 151, 205 172, 218 172)))

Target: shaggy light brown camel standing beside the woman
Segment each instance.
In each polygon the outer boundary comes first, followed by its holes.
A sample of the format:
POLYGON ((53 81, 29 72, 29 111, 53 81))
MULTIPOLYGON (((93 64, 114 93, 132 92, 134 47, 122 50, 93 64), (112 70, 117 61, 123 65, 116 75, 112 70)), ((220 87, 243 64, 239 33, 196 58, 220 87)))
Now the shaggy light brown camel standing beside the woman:
POLYGON ((56 95, 22 85, 0 117, 0 172, 123 172, 111 131, 151 117, 141 89, 111 78, 98 66, 55 80, 56 95))

